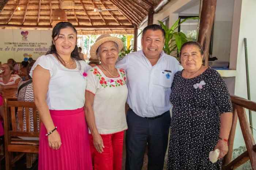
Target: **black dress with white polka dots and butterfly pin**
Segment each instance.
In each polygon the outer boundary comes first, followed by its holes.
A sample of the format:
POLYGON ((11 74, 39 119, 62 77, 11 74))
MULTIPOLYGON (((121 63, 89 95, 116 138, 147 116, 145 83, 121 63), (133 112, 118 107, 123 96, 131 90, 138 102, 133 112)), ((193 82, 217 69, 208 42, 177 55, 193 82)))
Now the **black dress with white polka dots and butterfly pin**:
POLYGON ((222 160, 209 161, 218 142, 220 115, 232 112, 230 95, 216 70, 195 78, 174 75, 167 170, 221 170, 222 160))

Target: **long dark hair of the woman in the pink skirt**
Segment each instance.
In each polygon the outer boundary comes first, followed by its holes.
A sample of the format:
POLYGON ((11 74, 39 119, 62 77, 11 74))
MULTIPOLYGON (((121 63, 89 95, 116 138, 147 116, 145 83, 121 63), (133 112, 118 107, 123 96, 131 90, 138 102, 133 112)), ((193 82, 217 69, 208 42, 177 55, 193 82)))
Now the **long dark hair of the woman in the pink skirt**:
MULTIPOLYGON (((57 50, 56 50, 56 47, 55 45, 53 44, 53 40, 54 38, 59 38, 59 35, 60 35, 60 30, 63 29, 63 28, 72 28, 74 30, 74 32, 76 33, 77 35, 77 31, 76 31, 76 28, 69 22, 59 22, 56 24, 56 26, 53 28, 52 30, 52 46, 50 46, 50 50, 47 51, 46 55, 47 54, 55 54, 58 58, 58 60, 63 63, 63 65, 65 65, 65 62, 63 61, 63 59, 59 56, 59 54, 57 53, 57 50)), ((79 57, 79 53, 78 53, 78 47, 77 45, 75 46, 75 49, 72 51, 71 53, 71 57, 74 58, 75 60, 82 60, 80 59, 79 57)))

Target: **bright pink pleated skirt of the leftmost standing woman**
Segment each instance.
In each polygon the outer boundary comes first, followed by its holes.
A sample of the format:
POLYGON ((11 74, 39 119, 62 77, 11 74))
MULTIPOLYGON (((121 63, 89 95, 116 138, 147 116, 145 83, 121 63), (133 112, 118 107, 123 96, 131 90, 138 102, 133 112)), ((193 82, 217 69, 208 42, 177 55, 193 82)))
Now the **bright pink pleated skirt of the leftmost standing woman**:
POLYGON ((88 127, 84 108, 76 110, 50 110, 52 120, 61 138, 61 147, 49 147, 44 124, 39 138, 38 170, 92 170, 88 127))

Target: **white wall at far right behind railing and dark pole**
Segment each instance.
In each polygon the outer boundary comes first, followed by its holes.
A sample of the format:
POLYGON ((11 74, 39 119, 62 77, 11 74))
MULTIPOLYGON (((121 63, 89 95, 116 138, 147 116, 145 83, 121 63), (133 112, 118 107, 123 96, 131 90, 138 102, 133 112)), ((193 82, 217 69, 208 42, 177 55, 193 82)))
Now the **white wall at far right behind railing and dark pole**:
MULTIPOLYGON (((256 1, 255 0, 236 0, 236 5, 241 5, 241 19, 240 19, 240 30, 238 38, 238 46, 234 45, 231 50, 237 49, 237 61, 236 61, 236 85, 235 85, 235 95, 247 98, 246 90, 246 70, 245 70, 245 49, 244 49, 244 38, 247 38, 247 49, 248 49, 248 67, 249 67, 249 78, 250 78, 250 89, 251 89, 251 100, 256 102, 256 57, 255 57, 255 47, 256 47, 256 1), (233 49, 232 49, 233 48, 233 49)), ((235 8, 236 9, 236 8, 235 8)), ((234 12, 239 12, 234 11, 234 12)), ((234 30, 235 32, 235 30, 234 30)), ((235 34, 233 36, 236 36, 235 34)), ((236 58, 235 55, 232 56, 233 60, 236 58)), ((234 61, 235 62, 235 61, 234 61)), ((247 115, 248 116, 248 115, 247 115)), ((248 117, 249 119, 249 117, 248 117)), ((256 113, 252 112, 253 127, 256 128, 256 113)), ((240 129, 239 124, 237 129, 240 129)), ((256 140, 256 131, 253 131, 254 139, 256 140)), ((236 131, 236 138, 240 138, 240 130, 236 131)), ((236 141, 236 146, 243 144, 244 141, 236 141)))

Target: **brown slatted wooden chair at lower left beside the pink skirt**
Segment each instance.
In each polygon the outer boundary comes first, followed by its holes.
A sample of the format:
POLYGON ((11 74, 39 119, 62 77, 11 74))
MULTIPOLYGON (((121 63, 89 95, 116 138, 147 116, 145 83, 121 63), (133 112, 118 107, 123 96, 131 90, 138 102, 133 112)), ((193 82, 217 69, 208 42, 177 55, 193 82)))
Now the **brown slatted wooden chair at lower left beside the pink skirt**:
POLYGON ((22 137, 38 137, 37 128, 37 108, 34 102, 17 101, 17 99, 7 99, 4 113, 4 142, 5 142, 5 170, 11 170, 11 165, 27 154, 27 167, 32 166, 31 154, 37 154, 39 140, 24 140, 22 137), (26 131, 23 131, 23 108, 25 109, 26 131), (34 132, 30 131, 29 108, 33 109, 34 132), (17 112, 15 110, 18 109, 17 112), (16 116, 17 114, 17 116, 16 116), (16 117, 20 131, 17 130, 16 117), (13 158, 13 152, 22 152, 13 158))

